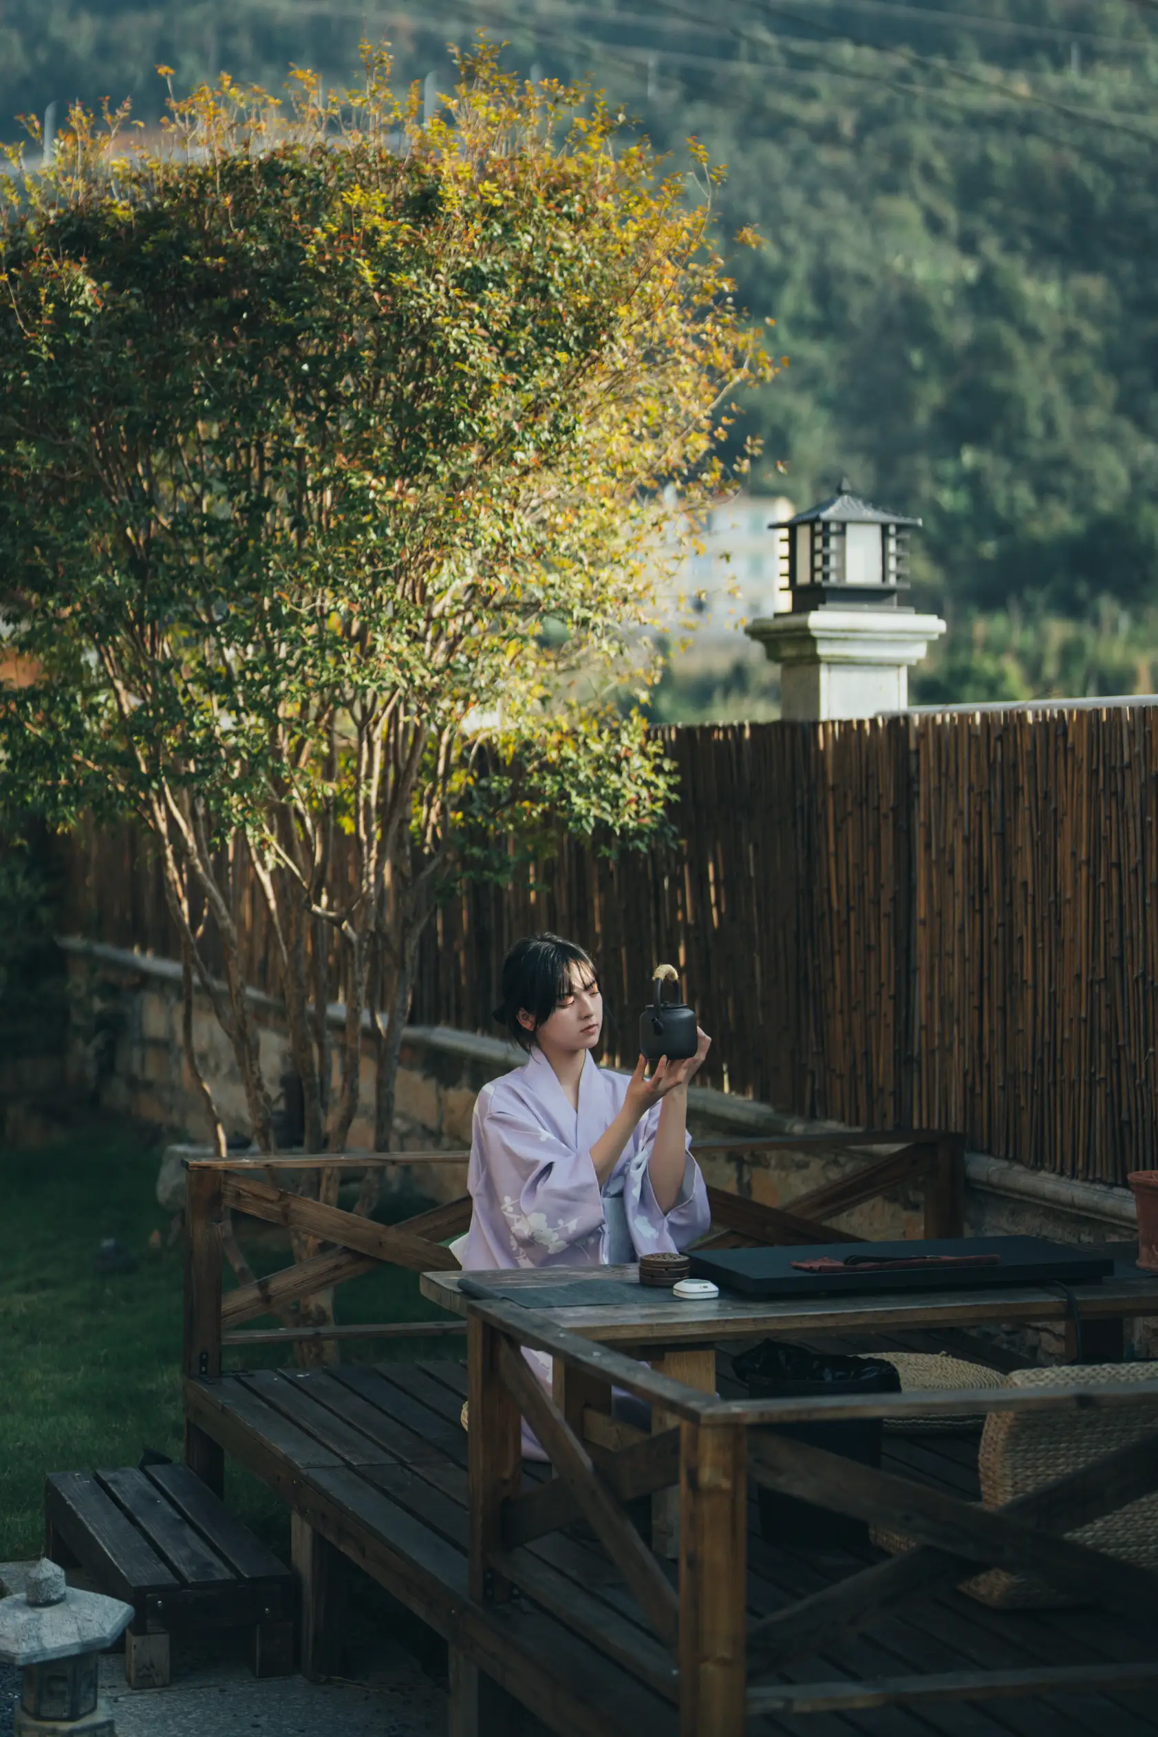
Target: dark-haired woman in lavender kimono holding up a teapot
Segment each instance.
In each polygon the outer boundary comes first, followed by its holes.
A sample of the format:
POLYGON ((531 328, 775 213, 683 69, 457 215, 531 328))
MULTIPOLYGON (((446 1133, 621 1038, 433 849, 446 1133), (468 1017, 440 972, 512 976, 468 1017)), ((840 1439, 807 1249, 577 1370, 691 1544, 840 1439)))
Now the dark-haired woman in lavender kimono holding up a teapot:
POLYGON ((495 1011, 526 1049, 526 1067, 477 1096, 467 1186, 467 1270, 601 1266, 677 1252, 708 1228, 688 1138, 688 1061, 644 1058, 613 1073, 590 1056, 602 1030, 595 968, 582 947, 531 935, 503 961, 495 1011))

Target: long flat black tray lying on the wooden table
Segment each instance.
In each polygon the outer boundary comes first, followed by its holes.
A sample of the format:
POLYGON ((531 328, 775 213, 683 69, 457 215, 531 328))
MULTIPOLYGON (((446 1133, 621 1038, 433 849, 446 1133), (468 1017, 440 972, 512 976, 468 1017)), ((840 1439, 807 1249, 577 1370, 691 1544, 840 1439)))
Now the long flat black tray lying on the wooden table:
POLYGON ((943 1242, 821 1242, 802 1249, 727 1249, 691 1252, 696 1278, 712 1278, 720 1291, 750 1298, 896 1296, 905 1291, 983 1291, 1005 1285, 1092 1285, 1115 1270, 1113 1258, 1089 1249, 1047 1242, 1043 1237, 965 1237, 943 1242), (882 1261, 903 1254, 997 1254, 997 1266, 915 1266, 911 1271, 800 1273, 793 1261, 819 1256, 835 1261, 873 1254, 882 1261))

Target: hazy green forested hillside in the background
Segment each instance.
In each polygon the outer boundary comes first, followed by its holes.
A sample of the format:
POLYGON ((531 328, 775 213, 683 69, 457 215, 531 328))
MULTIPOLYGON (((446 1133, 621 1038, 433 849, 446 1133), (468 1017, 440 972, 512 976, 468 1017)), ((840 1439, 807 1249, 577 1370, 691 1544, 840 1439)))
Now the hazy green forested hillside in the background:
POLYGON ((766 238, 740 294, 790 356, 748 405, 757 483, 847 471, 924 516, 957 629, 925 697, 1156 684, 1158 0, 7 0, 0 115, 148 118, 158 61, 345 76, 363 28, 446 89, 477 26, 727 163, 722 233, 766 238))

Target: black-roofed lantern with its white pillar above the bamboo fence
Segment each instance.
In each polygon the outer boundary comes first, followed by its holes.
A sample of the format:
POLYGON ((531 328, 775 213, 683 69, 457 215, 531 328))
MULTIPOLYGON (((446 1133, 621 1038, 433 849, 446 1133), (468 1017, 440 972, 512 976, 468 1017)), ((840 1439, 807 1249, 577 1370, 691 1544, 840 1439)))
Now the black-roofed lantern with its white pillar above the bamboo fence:
POLYGON ((908 537, 920 526, 852 493, 771 530, 785 532, 792 610, 745 632, 781 665, 786 719, 872 717, 908 705, 908 669, 944 632, 936 615, 899 603, 908 589, 908 537))

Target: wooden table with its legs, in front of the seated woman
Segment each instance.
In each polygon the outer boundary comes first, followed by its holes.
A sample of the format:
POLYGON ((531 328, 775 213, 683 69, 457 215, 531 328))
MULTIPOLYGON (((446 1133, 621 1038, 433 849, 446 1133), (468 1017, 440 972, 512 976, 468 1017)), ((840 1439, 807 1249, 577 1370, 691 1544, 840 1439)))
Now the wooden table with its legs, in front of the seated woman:
MULTIPOLYGON (((1104 1252, 1115 1258, 1115 1273, 1099 1285, 1075 1285, 1071 1294, 1082 1320, 1085 1362, 1113 1364, 1122 1360, 1125 1322, 1128 1318, 1158 1317, 1158 1275, 1144 1273, 1134 1263, 1135 1244, 1111 1244, 1104 1252)), ((472 1277, 458 1271, 422 1275, 422 1294, 455 1315, 467 1313, 469 1298, 460 1291, 460 1280, 472 1277)), ((495 1273, 479 1273, 495 1280, 495 1273)), ((1031 1322, 1066 1322, 1069 1355, 1076 1353, 1069 1304, 1061 1289, 1016 1285, 984 1291, 906 1292, 901 1296, 811 1298, 802 1303, 760 1303, 752 1298, 720 1296, 712 1303, 681 1303, 670 1291, 639 1285, 635 1266, 535 1268, 502 1275, 505 1291, 526 1294, 526 1306, 540 1311, 554 1325, 601 1344, 627 1350, 632 1357, 651 1364, 661 1374, 715 1391, 715 1346, 727 1339, 786 1337, 813 1339, 821 1336, 875 1337, 882 1334, 938 1332, 979 1325, 1019 1325, 1031 1322), (594 1284, 634 1284, 637 1304, 543 1308, 536 1294, 568 1280, 594 1284)), ((578 1372, 568 1372, 556 1362, 556 1402, 578 1435, 590 1435, 592 1423, 606 1445, 613 1445, 615 1430, 609 1421, 611 1395, 606 1384, 578 1372), (599 1416, 606 1424, 599 1428, 599 1416)), ((653 1433, 672 1424, 667 1414, 653 1417, 653 1433)), ((599 1438, 599 1436, 595 1436, 599 1438)), ((675 1492, 653 1499, 653 1544, 660 1555, 672 1556, 677 1548, 675 1492)))

